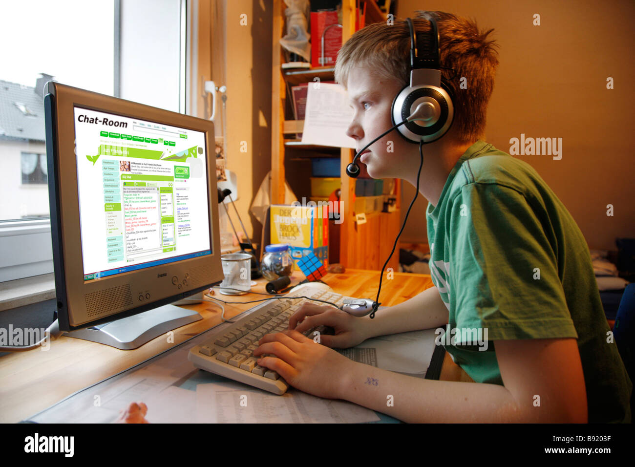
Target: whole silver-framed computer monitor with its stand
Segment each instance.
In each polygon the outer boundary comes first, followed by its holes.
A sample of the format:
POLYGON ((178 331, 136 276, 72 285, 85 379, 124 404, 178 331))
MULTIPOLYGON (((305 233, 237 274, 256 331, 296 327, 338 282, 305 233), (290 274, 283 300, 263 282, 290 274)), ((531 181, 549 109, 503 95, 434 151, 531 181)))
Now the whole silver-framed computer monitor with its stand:
POLYGON ((213 123, 53 81, 44 112, 60 330, 130 349, 201 319, 169 304, 223 279, 213 123))

